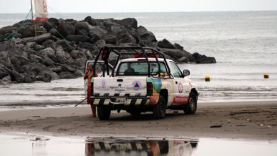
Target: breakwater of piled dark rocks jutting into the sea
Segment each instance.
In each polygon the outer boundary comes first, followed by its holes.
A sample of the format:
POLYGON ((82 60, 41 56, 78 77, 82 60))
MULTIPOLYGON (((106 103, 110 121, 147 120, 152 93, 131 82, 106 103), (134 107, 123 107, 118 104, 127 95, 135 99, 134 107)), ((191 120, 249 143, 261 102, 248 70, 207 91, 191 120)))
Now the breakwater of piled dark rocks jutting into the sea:
POLYGON ((134 18, 115 20, 88 16, 83 21, 50 18, 44 31, 35 37, 34 24, 28 20, 0 28, 0 84, 81 77, 85 61, 92 60, 99 48, 106 45, 156 48, 180 63, 216 62, 214 57, 190 54, 177 43, 156 40, 145 27, 138 27, 134 18), (22 23, 25 24, 18 30, 22 23), (16 30, 18 33, 13 39, 4 40, 16 30))

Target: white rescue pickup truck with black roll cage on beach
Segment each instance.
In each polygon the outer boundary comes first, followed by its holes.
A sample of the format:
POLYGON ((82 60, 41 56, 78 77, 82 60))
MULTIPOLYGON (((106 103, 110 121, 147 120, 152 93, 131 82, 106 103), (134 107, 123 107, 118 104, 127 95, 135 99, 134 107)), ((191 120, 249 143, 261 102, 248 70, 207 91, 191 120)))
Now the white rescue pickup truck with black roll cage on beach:
MULTIPOLYGON (((162 52, 142 47, 103 47, 93 61, 103 62, 100 77, 93 77, 90 100, 100 120, 111 111, 132 115, 152 111, 153 118, 165 118, 166 109, 193 114, 197 109, 197 86, 162 52), (101 59, 101 60, 100 60, 101 59), (111 65, 112 64, 112 65, 111 65)), ((89 61, 87 61, 89 63, 89 61)))

